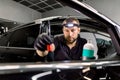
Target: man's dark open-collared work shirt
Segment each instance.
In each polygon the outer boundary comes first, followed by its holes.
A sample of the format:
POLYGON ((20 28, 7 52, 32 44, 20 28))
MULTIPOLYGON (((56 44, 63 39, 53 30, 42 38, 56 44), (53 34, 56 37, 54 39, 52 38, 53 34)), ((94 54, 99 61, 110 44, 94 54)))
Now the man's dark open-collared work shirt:
POLYGON ((54 39, 54 60, 81 60, 83 46, 86 42, 86 39, 80 38, 80 36, 78 36, 76 46, 70 49, 66 45, 66 40, 63 35, 56 36, 54 39))

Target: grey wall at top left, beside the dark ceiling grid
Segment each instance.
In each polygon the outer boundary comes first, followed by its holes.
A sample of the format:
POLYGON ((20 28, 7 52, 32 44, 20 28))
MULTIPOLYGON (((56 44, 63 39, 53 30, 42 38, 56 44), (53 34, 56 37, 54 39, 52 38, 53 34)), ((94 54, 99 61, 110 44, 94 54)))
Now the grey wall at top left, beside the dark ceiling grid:
POLYGON ((41 18, 41 13, 12 0, 0 0, 0 18, 27 23, 41 18))

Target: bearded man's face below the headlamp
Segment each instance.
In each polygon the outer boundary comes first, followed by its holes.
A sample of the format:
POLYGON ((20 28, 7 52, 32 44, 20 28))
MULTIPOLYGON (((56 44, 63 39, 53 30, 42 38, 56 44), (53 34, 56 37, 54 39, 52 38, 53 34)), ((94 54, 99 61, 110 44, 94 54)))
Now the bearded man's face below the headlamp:
POLYGON ((80 28, 78 28, 77 26, 73 26, 73 27, 63 26, 63 34, 67 43, 73 43, 74 41, 76 41, 79 32, 80 32, 80 28))

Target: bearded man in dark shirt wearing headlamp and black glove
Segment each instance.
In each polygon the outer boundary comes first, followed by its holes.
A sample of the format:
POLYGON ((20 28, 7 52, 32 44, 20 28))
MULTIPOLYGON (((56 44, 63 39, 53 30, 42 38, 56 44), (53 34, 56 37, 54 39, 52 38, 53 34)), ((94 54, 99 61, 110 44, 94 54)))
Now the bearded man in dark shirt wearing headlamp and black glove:
POLYGON ((54 52, 54 60, 81 60, 83 45, 87 42, 80 38, 80 23, 76 18, 67 18, 62 23, 63 35, 56 36, 54 41, 47 35, 41 34, 35 42, 37 54, 41 57, 47 56, 47 45, 51 45, 54 52))

